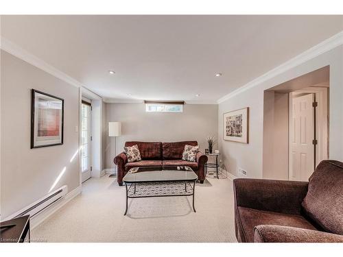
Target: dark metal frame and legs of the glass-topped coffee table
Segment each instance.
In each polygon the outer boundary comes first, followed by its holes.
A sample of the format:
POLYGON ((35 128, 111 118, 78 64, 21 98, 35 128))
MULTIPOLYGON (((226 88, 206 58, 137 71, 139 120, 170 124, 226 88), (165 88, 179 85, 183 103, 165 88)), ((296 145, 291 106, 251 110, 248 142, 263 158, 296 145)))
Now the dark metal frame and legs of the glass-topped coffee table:
MULTIPOLYGON (((156 167, 154 167, 154 168, 156 168, 156 167)), ((162 167, 160 167, 160 168, 162 169, 162 167)), ((163 167, 163 169, 167 169, 167 168, 170 168, 170 167, 163 167)), ((194 206, 194 193, 195 193, 197 180, 198 180, 198 178, 196 178, 194 180, 158 180, 158 181, 157 180, 150 180, 150 181, 140 181, 140 182, 126 182, 125 180, 123 180, 123 182, 125 183, 125 188, 126 188, 126 209, 125 209, 124 216, 128 213, 128 199, 129 198, 192 196, 193 211, 196 212, 196 208, 194 206), (130 190, 134 191, 133 195, 136 193, 136 188, 137 188, 136 185, 137 184, 163 184, 163 183, 173 183, 173 184, 174 183, 175 184, 185 183, 185 193, 174 194, 174 195, 173 194, 171 194, 171 195, 135 195, 135 196, 129 195, 130 190), (190 186, 191 192, 187 191, 187 184, 190 186), (133 189, 132 189, 132 187, 133 187, 133 189)))

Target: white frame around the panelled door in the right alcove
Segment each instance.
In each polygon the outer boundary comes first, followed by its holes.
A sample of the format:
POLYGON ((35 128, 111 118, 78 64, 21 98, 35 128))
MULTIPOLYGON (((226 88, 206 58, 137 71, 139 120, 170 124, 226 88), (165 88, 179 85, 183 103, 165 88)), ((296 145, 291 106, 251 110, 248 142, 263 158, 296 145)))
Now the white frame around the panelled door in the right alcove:
MULTIPOLYGON (((316 102, 318 106, 316 107, 316 139, 318 144, 316 145, 316 166, 321 160, 329 158, 329 88, 312 86, 308 88, 303 88, 302 90, 296 90, 289 93, 289 140, 292 133, 292 94, 303 94, 303 93, 314 93, 316 96, 316 102)), ((288 153, 288 158, 290 159, 290 149, 288 153)), ((288 165, 290 169, 290 164, 288 165)), ((289 175, 289 173, 288 173, 289 175)), ((290 178, 288 177, 288 180, 290 178)))

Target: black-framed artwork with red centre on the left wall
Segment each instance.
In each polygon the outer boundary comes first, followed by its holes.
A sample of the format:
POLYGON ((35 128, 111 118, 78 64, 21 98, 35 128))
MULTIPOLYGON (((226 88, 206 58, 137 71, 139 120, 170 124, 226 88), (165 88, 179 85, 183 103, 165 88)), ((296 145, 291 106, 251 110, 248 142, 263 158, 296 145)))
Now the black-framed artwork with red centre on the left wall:
POLYGON ((63 144, 64 99, 31 91, 31 148, 63 144))

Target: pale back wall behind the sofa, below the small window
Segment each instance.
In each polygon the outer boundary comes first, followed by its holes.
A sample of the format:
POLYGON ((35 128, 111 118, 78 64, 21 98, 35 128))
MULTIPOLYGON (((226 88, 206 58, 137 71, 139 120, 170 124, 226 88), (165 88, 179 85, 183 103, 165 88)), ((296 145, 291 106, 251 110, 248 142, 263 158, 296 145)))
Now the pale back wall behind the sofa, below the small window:
MULTIPOLYGON (((108 121, 122 122, 117 137, 117 154, 129 140, 176 142, 198 140, 200 150, 207 148, 206 136, 217 136, 216 104, 185 104, 183 112, 145 112, 144 103, 106 103, 108 121)), ((107 132, 108 135, 108 132, 107 132)), ((113 138, 107 136, 106 168, 113 168, 113 138)), ((217 149, 217 145, 214 145, 217 149)))

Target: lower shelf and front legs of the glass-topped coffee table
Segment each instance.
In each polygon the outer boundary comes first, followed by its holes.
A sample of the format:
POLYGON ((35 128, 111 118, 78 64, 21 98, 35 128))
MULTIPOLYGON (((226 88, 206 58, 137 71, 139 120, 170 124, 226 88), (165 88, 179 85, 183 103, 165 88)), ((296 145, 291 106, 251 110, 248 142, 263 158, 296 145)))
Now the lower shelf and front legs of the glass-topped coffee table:
POLYGON ((196 180, 176 182, 132 182, 125 183, 126 186, 126 210, 124 215, 128 212, 129 198, 144 198, 144 197, 176 197, 176 196, 192 196, 193 211, 194 207, 194 191, 196 187, 196 180))

